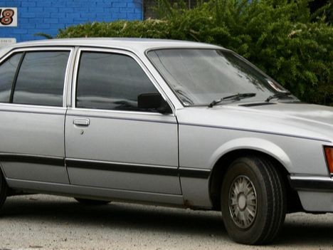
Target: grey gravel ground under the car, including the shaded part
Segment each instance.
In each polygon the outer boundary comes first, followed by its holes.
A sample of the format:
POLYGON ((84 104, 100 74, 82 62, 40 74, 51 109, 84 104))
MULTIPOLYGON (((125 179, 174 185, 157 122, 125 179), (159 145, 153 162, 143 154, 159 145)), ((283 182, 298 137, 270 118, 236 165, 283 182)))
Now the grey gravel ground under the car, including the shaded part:
POLYGON ((9 197, 0 249, 333 249, 333 215, 290 214, 270 246, 233 243, 218 212, 112 202, 86 206, 67 197, 9 197))

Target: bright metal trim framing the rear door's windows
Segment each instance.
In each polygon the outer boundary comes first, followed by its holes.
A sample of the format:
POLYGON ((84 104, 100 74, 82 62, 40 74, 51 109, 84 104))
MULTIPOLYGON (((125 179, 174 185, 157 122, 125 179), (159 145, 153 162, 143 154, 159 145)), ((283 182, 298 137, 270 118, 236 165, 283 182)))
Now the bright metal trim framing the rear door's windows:
POLYGON ((73 61, 73 56, 74 55, 74 47, 68 47, 68 46, 36 46, 36 47, 27 47, 27 48, 14 48, 13 50, 9 51, 4 57, 0 59, 0 64, 3 63, 6 58, 9 58, 12 56, 14 53, 24 53, 24 52, 31 52, 31 51, 37 51, 37 52, 47 52, 47 51, 70 51, 70 54, 68 56, 68 61, 67 61, 67 66, 65 70, 65 78, 63 81, 63 105, 62 106, 52 106, 52 105, 35 105, 35 104, 21 104, 21 103, 0 103, 1 105, 3 104, 9 104, 9 105, 15 105, 15 106, 24 106, 24 107, 31 107, 31 106, 36 106, 36 107, 43 107, 43 108, 66 108, 66 96, 67 96, 67 88, 68 88, 68 80, 70 78, 68 77, 70 74, 70 64, 73 61))

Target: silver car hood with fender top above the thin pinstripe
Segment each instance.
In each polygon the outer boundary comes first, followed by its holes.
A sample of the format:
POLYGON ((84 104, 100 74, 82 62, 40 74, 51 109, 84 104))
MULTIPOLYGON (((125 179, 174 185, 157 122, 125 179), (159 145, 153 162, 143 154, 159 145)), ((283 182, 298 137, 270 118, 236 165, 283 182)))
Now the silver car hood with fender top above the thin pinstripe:
POLYGON ((333 141, 333 108, 305 103, 249 103, 178 110, 179 124, 333 141))

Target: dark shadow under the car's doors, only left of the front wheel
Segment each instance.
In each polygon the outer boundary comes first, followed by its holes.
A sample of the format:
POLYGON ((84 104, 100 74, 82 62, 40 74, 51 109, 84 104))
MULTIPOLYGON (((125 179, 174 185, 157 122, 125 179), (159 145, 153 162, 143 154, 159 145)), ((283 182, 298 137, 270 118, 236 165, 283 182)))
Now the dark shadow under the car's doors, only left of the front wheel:
POLYGON ((74 199, 19 199, 9 197, 1 209, 1 217, 55 222, 73 226, 87 225, 112 228, 169 231, 172 234, 206 234, 225 236, 219 212, 194 212, 189 209, 145 206, 111 202, 107 205, 86 205, 74 199))

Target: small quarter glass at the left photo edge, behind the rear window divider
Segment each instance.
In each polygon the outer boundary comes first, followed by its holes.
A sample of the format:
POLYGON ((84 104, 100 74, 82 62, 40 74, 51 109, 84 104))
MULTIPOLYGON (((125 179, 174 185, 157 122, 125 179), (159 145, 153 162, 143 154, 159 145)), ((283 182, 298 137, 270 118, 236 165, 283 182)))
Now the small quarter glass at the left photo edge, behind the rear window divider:
POLYGON ((9 103, 11 88, 22 53, 17 53, 0 65, 0 103, 9 103))

